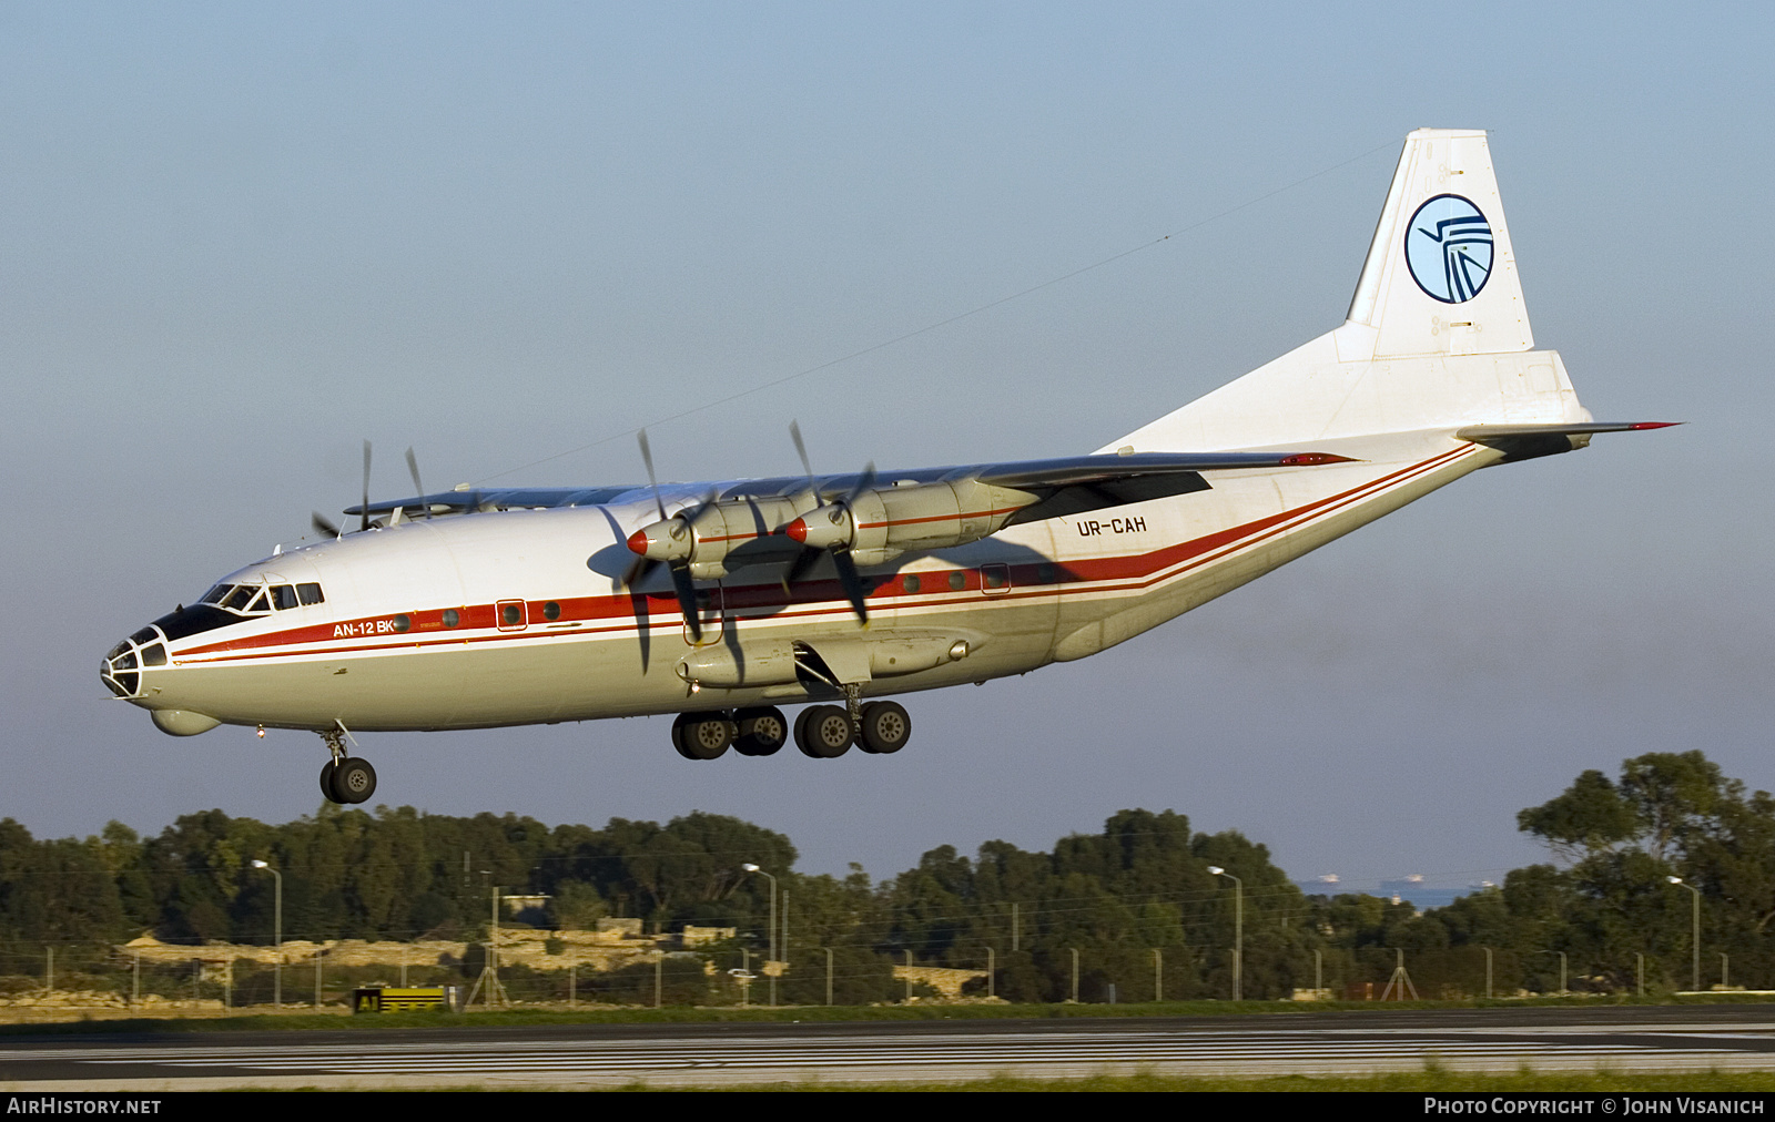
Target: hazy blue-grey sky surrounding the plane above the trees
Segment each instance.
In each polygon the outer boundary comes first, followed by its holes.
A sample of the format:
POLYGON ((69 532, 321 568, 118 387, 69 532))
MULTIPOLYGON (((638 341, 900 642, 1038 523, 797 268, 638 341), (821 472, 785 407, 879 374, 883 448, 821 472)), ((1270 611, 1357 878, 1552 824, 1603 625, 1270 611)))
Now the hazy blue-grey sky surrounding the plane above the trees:
POLYGON ((375 737, 382 795, 735 813, 877 875, 1175 808, 1361 884, 1495 879, 1539 856, 1516 810, 1644 751, 1775 788, 1770 23, 0 7, 0 815, 312 813, 314 737, 172 740, 94 671, 353 501, 362 439, 383 492, 408 444, 438 485, 635 479, 639 424, 673 478, 795 470, 792 417, 825 470, 1090 451, 1335 327, 1416 126, 1491 130, 1537 344, 1590 410, 1692 424, 1482 472, 1097 659, 921 696, 893 760, 689 765, 664 719, 375 737))

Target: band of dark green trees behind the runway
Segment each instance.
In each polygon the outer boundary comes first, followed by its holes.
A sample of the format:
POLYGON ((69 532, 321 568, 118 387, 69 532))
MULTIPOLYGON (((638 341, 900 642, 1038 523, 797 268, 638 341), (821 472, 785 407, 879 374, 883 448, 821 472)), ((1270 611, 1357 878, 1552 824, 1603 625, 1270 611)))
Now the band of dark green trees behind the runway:
MULTIPOLYGON (((722 948, 667 960, 669 994, 685 1001, 737 1003, 724 971, 742 962, 758 971, 770 950, 772 881, 744 865, 776 877, 788 937, 777 950, 790 964, 779 998, 804 1005, 825 1001, 829 960, 836 1003, 898 1001, 905 982, 895 968, 909 959, 980 973, 990 964, 990 980, 973 978, 967 992, 1010 1001, 1065 1001, 1074 985, 1086 1003, 1111 989, 1118 1003, 1161 992, 1168 1001, 1227 998, 1235 925, 1246 998, 1283 998, 1321 975, 1333 992, 1379 994, 1400 952, 1424 998, 1482 994, 1487 952, 1496 994, 1558 989, 1560 955, 1573 991, 1629 992, 1642 976, 1667 991, 1690 984, 1695 952, 1695 897, 1670 877, 1700 893, 1702 984, 1718 978, 1718 953, 1731 955, 1734 982, 1775 984, 1775 799, 1766 792, 1747 792, 1700 753, 1651 753, 1622 762, 1613 779, 1580 774, 1523 810, 1518 826, 1551 849, 1551 863, 1418 914, 1367 895, 1306 898, 1264 845, 1235 831, 1195 833, 1173 811, 1124 810, 1051 852, 941 845, 879 884, 859 866, 843 877, 797 873, 786 836, 701 811, 595 829, 330 804, 268 826, 211 810, 156 836, 112 822, 83 842, 36 840, 7 818, 0 939, 12 950, 0 955, 0 973, 39 976, 44 944, 57 944, 60 976, 110 976, 115 962, 76 964, 89 952, 75 948, 144 928, 170 941, 270 943, 277 881, 252 866, 266 861, 282 873, 286 939, 472 941, 485 937, 495 886, 548 897, 538 920, 563 932, 607 916, 662 934, 687 923, 735 928, 722 948), (698 973, 705 964, 717 973, 698 973)), ((547 946, 566 957, 564 937, 547 946)), ((465 962, 433 973, 474 978, 481 955, 470 948, 465 962)), ((651 966, 634 969, 596 982, 580 971, 586 1000, 651 1003, 651 966)), ((263 984, 241 978, 245 991, 263 984)), ((566 971, 527 984, 564 998, 566 971)), ((754 985, 753 1000, 763 992, 754 985)))

